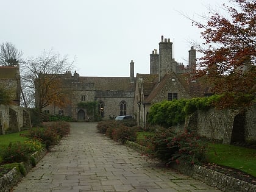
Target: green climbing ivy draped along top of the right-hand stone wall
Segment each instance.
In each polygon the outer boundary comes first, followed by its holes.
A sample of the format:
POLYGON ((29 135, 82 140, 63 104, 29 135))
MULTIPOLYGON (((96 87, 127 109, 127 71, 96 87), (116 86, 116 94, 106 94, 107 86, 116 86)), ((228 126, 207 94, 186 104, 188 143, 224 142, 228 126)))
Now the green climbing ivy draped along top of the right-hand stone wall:
POLYGON ((243 107, 251 103, 255 103, 254 95, 242 94, 221 94, 213 95, 205 98, 179 99, 174 101, 163 101, 152 105, 149 111, 148 123, 158 124, 163 127, 171 127, 176 124, 183 124, 186 116, 196 112, 196 110, 208 110, 210 107, 226 108, 226 107, 243 107), (232 100, 230 102, 225 101, 232 100), (239 105, 238 105, 239 104, 239 105))

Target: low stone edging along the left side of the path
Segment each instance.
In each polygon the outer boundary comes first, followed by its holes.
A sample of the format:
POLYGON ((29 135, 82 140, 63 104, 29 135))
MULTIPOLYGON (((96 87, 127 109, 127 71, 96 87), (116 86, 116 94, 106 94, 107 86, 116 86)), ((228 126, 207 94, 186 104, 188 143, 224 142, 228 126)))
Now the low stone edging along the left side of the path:
MULTIPOLYGON (((34 157, 35 163, 37 164, 41 158, 47 153, 46 149, 42 149, 41 151, 34 152, 31 157, 34 157)), ((33 168, 33 165, 30 162, 21 163, 23 164, 25 170, 25 175, 33 168)), ((14 187, 24 176, 21 174, 20 171, 15 167, 7 174, 4 174, 0 178, 0 192, 8 192, 12 187, 14 187)))

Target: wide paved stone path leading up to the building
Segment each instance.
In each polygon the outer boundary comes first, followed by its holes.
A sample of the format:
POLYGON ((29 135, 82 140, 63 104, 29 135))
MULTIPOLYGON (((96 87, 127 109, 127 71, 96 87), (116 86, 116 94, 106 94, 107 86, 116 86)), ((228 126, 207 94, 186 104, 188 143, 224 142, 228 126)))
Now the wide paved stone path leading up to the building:
POLYGON ((69 137, 13 188, 37 191, 218 191, 97 133, 96 123, 71 123, 69 137))

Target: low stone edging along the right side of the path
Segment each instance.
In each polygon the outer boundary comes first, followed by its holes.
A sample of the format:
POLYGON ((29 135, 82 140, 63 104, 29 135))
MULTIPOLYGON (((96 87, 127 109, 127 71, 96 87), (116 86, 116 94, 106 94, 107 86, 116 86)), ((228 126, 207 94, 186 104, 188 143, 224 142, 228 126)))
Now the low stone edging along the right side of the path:
MULTIPOLYGON (((132 141, 126 141, 126 146, 132 148, 142 154, 146 152, 146 147, 132 141)), ((240 192, 254 192, 256 185, 227 176, 221 172, 205 168, 198 165, 187 165, 185 163, 172 163, 171 168, 174 168, 183 174, 193 177, 196 180, 206 183, 212 187, 218 188, 221 191, 240 191, 240 192)))

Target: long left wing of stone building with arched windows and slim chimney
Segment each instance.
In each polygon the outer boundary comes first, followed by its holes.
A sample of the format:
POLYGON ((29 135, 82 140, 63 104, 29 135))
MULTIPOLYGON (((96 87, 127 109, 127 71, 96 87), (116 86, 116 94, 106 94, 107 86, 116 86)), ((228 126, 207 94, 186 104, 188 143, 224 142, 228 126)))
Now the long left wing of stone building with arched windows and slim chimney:
MULTIPOLYGON (((98 101, 98 113, 102 119, 118 115, 134 115, 133 99, 135 91, 134 62, 130 62, 130 77, 82 77, 70 71, 59 74, 68 89, 71 103, 65 108, 49 105, 44 112, 71 116, 76 121, 93 118, 87 108, 78 107, 79 102, 98 101)), ((93 120, 93 119, 92 119, 93 120)))

